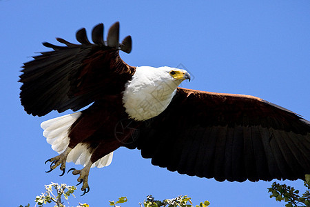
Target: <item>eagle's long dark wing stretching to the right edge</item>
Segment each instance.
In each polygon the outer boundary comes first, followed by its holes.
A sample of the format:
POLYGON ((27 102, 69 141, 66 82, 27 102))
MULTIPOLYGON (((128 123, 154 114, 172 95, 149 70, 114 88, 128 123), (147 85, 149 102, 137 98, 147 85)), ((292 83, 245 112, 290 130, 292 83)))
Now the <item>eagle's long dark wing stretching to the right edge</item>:
POLYGON ((258 97, 178 88, 136 146, 152 164, 218 181, 304 179, 310 123, 258 97))

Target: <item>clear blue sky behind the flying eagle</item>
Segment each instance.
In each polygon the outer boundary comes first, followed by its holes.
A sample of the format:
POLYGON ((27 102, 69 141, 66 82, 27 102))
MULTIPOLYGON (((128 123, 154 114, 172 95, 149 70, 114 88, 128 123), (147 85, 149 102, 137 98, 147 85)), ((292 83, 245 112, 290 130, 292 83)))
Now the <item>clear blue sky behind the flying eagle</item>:
MULTIPOLYGON (((40 123, 59 116, 32 117, 19 102, 19 70, 43 41, 75 41, 97 23, 121 23, 121 38, 132 35, 133 50, 121 57, 132 66, 180 63, 194 75, 185 88, 255 95, 310 119, 310 1, 0 1, 1 206, 30 202, 51 181, 76 184, 77 177, 45 173, 54 157, 40 123)), ((105 30, 106 34, 107 30, 105 30)), ((106 35, 105 35, 106 37, 106 35)), ((64 112, 63 115, 70 113, 64 112)), ((67 168, 81 168, 69 164, 67 168)), ((283 183, 283 182, 281 182, 283 183)), ((284 183, 302 188, 302 181, 284 183)), ((147 195, 166 199, 189 195, 211 206, 284 206, 269 198, 271 182, 218 182, 178 175, 152 166, 138 150, 120 148, 107 168, 92 168, 90 193, 72 199, 90 206, 127 196, 138 206, 147 195)))

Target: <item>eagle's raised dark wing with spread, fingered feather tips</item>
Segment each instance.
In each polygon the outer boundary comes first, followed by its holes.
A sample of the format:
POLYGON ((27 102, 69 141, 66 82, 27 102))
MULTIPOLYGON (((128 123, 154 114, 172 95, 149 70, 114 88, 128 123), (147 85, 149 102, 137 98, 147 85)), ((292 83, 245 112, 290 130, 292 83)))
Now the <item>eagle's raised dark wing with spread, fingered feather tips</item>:
POLYGON ((81 44, 60 38, 57 41, 65 46, 43 43, 53 51, 41 52, 34 60, 24 63, 21 70, 20 98, 25 111, 38 116, 52 110, 76 111, 103 95, 122 92, 135 67, 128 66, 118 54, 119 50, 130 53, 131 37, 118 43, 118 34, 119 23, 116 22, 107 34, 107 41, 103 41, 103 24, 100 23, 92 30, 94 43, 87 39, 85 28, 76 32, 81 44))

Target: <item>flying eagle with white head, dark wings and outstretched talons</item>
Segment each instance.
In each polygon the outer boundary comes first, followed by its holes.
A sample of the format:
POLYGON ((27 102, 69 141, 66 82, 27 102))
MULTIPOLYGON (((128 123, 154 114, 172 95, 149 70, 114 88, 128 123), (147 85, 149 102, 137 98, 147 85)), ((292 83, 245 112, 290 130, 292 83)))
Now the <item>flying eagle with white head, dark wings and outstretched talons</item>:
POLYGON ((141 150, 152 164, 217 181, 304 179, 310 173, 310 122, 295 112, 250 95, 178 87, 186 70, 129 66, 132 38, 119 43, 119 22, 103 38, 103 23, 76 32, 78 44, 56 40, 52 48, 23 64, 19 82, 25 112, 43 116, 74 113, 41 124, 59 153, 50 170, 66 162, 83 193, 90 168, 111 164, 117 148, 141 150), (88 108, 85 108, 88 106, 88 108), (84 109, 85 108, 85 109, 84 109))

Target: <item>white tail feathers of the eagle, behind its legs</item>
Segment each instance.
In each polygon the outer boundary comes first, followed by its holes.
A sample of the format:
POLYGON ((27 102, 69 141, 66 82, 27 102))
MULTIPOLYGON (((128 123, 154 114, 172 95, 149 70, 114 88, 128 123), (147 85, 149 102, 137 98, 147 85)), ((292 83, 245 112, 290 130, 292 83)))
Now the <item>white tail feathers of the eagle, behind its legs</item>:
MULTIPOLYGON (((75 112, 71 115, 65 115, 44 121, 41 124, 43 128, 43 136, 46 137, 48 144, 52 145, 52 149, 59 154, 65 151, 68 147, 70 138, 68 132, 74 121, 81 116, 81 112, 75 112)), ((90 161, 91 154, 85 144, 78 144, 69 153, 67 162, 73 161, 74 164, 81 164, 85 166, 90 161)), ((111 164, 113 152, 92 164, 92 168, 103 168, 111 164)))

